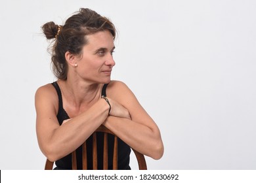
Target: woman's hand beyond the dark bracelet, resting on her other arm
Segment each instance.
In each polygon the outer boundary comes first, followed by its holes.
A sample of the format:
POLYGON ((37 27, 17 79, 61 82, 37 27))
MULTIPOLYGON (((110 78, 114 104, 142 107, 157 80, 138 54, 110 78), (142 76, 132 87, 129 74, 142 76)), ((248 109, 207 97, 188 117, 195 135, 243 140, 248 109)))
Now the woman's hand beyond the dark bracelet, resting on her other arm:
POLYGON ((123 107, 121 104, 117 103, 117 101, 114 101, 110 98, 108 98, 108 101, 110 102, 110 105, 111 105, 110 116, 127 118, 131 120, 130 113, 125 107, 123 107))

